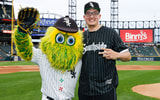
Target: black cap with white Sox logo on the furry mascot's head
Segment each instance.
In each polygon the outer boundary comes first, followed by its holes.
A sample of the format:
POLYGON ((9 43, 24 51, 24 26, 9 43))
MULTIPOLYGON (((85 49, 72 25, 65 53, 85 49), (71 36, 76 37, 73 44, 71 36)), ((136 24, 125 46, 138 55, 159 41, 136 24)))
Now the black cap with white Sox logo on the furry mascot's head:
POLYGON ((56 23, 53 25, 60 31, 69 32, 69 33, 76 33, 78 32, 78 26, 76 22, 70 18, 68 15, 62 18, 59 18, 56 23))

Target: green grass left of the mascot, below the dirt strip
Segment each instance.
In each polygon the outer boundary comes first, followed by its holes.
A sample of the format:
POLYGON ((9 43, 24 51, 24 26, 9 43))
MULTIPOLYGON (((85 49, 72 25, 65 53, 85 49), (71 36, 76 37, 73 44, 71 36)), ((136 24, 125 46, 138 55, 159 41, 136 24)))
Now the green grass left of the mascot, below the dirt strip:
POLYGON ((41 100, 39 72, 0 74, 0 100, 41 100))

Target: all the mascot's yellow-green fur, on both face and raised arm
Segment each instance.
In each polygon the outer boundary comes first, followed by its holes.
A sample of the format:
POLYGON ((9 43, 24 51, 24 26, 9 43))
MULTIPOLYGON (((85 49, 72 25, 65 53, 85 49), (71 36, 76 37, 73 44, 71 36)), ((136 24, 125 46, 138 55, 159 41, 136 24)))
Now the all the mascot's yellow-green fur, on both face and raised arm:
MULTIPOLYGON (((26 61, 32 59, 32 41, 29 34, 21 33, 17 29, 14 32, 16 50, 18 55, 26 61), (18 38, 16 38, 18 37, 18 38)), ((65 72, 73 70, 78 60, 82 57, 83 43, 82 32, 67 33, 55 27, 49 27, 45 36, 41 39, 40 49, 47 55, 51 67, 65 72), (64 37, 63 43, 56 41, 58 34, 64 37), (69 39, 73 44, 69 44, 69 39)))

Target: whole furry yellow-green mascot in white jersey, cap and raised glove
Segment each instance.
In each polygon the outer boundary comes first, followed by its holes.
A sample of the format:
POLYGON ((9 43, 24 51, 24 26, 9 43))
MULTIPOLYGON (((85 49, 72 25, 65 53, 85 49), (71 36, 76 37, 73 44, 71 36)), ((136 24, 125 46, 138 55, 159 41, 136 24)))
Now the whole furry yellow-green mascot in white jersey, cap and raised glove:
POLYGON ((40 47, 31 42, 30 31, 39 21, 35 8, 19 11, 14 31, 18 55, 38 64, 42 78, 42 100, 71 100, 81 70, 82 33, 68 16, 56 21, 41 39, 40 47))

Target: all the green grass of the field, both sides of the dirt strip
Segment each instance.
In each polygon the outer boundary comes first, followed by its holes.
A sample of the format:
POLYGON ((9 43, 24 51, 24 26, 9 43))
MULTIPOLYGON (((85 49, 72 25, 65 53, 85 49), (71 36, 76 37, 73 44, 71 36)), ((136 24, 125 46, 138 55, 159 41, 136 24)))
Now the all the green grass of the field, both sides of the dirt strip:
MULTIPOLYGON (((0 62, 0 66, 34 65, 31 62, 0 62)), ((117 61, 117 65, 160 65, 158 61, 117 61), (147 63, 147 64, 146 64, 147 63)), ((160 83, 160 70, 118 71, 118 100, 158 100, 132 92, 139 84, 160 83)), ((0 100, 41 100, 41 77, 39 72, 17 72, 0 74, 0 100)), ((78 82, 75 97, 78 100, 78 82)))

